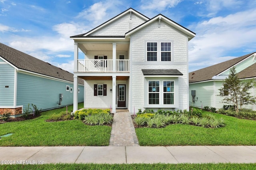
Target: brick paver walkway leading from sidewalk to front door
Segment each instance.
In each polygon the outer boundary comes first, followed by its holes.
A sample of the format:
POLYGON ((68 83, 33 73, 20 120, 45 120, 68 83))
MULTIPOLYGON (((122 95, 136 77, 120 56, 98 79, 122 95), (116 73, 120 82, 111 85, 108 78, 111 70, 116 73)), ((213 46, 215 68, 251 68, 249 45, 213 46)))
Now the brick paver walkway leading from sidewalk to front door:
POLYGON ((117 110, 114 114, 109 146, 139 146, 132 117, 128 110, 117 110))

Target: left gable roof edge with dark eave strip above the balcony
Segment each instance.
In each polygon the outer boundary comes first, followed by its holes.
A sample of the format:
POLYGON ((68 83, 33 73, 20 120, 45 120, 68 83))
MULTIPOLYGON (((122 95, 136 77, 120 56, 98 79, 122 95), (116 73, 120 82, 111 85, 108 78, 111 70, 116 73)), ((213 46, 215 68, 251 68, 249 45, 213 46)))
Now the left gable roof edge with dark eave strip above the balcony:
MULTIPOLYGON (((118 20, 119 18, 121 18, 122 16, 128 14, 128 13, 133 13, 135 14, 136 16, 139 16, 140 18, 144 19, 145 21, 149 20, 148 17, 144 16, 143 14, 141 14, 140 12, 132 9, 132 8, 129 8, 128 10, 122 12, 121 14, 118 14, 117 16, 115 16, 114 18, 102 23, 101 25, 99 25, 98 27, 88 31, 87 33, 83 33, 83 34, 79 34, 79 35, 74 35, 74 36, 71 36, 70 38, 78 38, 78 37, 94 37, 94 36, 89 36, 90 34, 98 31, 99 29, 101 29, 102 27, 105 27, 106 25, 118 20)), ((102 36, 100 36, 102 37, 102 36)), ((124 36, 122 36, 124 37, 124 36)))

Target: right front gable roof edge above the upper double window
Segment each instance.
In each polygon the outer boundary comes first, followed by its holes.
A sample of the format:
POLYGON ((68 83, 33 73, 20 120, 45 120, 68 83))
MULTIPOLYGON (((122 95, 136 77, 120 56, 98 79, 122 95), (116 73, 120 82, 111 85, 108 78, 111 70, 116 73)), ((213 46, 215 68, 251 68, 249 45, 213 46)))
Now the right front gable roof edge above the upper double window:
POLYGON ((148 21, 142 23, 142 24, 139 25, 138 27, 136 27, 136 28, 134 28, 134 29, 128 31, 128 32, 125 34, 125 37, 130 36, 132 33, 134 33, 134 32, 136 32, 136 31, 138 31, 138 30, 140 30, 140 29, 146 27, 147 25, 151 24, 152 22, 154 22, 154 21, 156 21, 156 20, 158 20, 158 21, 160 21, 160 22, 164 21, 164 22, 166 22, 167 24, 169 24, 169 25, 171 25, 172 27, 174 27, 175 29, 178 29, 179 31, 181 31, 182 33, 184 33, 185 35, 188 36, 188 41, 196 36, 196 33, 192 32, 192 31, 190 31, 189 29, 183 27, 182 25, 180 25, 180 24, 178 24, 178 23, 176 23, 176 22, 170 20, 169 18, 163 16, 162 14, 158 14, 158 15, 155 16, 154 18, 152 18, 152 19, 150 19, 150 20, 148 20, 148 21))

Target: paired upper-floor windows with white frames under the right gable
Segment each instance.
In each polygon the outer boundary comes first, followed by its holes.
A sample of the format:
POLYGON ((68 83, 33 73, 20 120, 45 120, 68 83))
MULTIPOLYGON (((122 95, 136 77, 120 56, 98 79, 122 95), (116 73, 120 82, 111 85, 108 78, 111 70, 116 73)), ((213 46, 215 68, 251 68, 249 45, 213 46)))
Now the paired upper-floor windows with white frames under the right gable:
POLYGON ((171 42, 147 42, 147 61, 161 61, 172 60, 172 43, 171 42), (160 44, 160 45, 158 45, 160 44))

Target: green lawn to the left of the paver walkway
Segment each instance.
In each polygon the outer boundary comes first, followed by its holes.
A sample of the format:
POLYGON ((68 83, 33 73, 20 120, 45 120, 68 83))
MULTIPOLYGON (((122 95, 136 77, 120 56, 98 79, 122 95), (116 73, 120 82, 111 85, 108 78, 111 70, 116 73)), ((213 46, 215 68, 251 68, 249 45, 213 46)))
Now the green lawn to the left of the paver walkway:
MULTIPOLYGON (((78 104, 78 108, 82 108, 78 104)), ((73 106, 68 106, 72 111, 73 106)), ((13 133, 0 140, 0 146, 108 146, 111 127, 89 126, 81 120, 46 122, 53 113, 66 111, 66 107, 42 112, 36 119, 0 124, 0 136, 13 133)))

